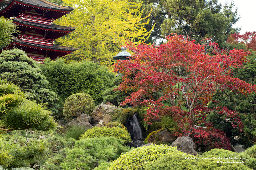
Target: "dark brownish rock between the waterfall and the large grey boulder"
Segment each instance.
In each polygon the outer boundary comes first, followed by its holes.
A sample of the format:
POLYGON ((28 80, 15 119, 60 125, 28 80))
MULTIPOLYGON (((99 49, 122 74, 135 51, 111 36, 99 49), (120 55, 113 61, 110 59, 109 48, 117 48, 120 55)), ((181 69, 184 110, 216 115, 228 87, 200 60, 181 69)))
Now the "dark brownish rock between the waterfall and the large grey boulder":
POLYGON ((153 133, 149 138, 149 143, 171 143, 175 140, 175 137, 167 130, 162 130, 157 133, 153 133))

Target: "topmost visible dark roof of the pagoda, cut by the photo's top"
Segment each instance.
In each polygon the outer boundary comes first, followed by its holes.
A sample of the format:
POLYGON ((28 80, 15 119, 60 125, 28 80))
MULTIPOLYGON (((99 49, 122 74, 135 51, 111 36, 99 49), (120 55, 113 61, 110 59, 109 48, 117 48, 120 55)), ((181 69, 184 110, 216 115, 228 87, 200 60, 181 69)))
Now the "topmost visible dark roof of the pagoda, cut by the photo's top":
POLYGON ((7 5, 3 6, 0 8, 0 11, 4 10, 6 7, 10 6, 14 2, 23 4, 23 5, 28 5, 28 6, 34 6, 38 7, 41 9, 48 9, 48 10, 57 10, 57 11, 72 11, 76 8, 69 7, 69 6, 63 6, 59 4, 54 4, 46 0, 9 0, 7 5))

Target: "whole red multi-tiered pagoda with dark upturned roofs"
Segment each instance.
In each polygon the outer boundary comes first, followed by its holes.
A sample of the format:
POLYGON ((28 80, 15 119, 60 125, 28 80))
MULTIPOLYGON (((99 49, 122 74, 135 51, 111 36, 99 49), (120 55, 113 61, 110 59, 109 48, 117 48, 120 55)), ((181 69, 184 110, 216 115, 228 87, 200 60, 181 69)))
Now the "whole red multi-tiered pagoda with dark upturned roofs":
MULTIPOLYGON (((0 0, 0 3, 2 1, 0 0)), ((12 44, 4 49, 22 49, 29 57, 40 63, 46 57, 55 60, 78 49, 55 45, 54 39, 74 31, 75 28, 52 24, 53 20, 76 8, 53 4, 46 0, 5 0, 5 3, 6 5, 0 8, 0 16, 11 18, 19 25, 20 35, 14 35, 12 44)))

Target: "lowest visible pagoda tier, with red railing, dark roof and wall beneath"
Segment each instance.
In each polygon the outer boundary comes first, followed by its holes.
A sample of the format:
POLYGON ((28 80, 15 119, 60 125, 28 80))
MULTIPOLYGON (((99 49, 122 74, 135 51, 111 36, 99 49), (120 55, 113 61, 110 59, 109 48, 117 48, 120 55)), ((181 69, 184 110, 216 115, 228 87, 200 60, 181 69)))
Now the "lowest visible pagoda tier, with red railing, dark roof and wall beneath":
POLYGON ((71 54, 78 48, 58 46, 55 45, 51 39, 34 38, 21 35, 15 38, 10 46, 6 49, 19 48, 26 51, 27 55, 33 60, 39 63, 43 63, 46 57, 50 57, 51 60, 55 60, 57 57, 62 57, 67 54, 71 54))

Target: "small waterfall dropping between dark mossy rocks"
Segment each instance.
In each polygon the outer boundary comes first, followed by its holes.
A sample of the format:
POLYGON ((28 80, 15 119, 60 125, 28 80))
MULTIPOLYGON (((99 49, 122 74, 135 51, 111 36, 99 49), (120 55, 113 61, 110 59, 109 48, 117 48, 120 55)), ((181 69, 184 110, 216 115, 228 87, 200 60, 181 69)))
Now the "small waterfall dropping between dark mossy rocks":
POLYGON ((140 138, 142 138, 140 124, 135 115, 133 115, 133 117, 129 117, 126 120, 126 128, 128 132, 131 134, 132 140, 139 140, 140 138))

